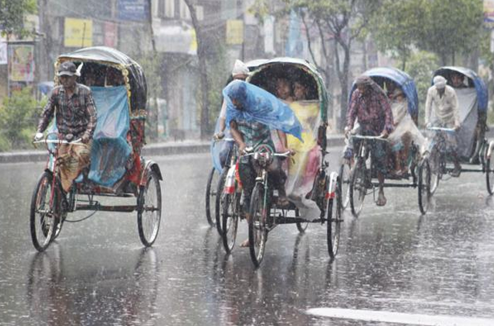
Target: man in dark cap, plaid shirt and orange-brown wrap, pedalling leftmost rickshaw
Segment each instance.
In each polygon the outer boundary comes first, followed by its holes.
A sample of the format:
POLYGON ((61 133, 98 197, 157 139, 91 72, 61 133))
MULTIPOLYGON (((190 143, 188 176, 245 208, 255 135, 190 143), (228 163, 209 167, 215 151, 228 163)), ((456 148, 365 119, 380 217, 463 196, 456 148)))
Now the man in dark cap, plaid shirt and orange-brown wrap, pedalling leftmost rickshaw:
POLYGON ((76 83, 77 69, 73 62, 65 61, 58 68, 60 85, 53 88, 39 120, 35 140, 43 137, 55 115, 58 133, 67 141, 81 139, 82 145, 64 144, 58 151, 60 181, 68 192, 72 181, 89 166, 91 143, 96 127, 96 109, 89 87, 76 83))

